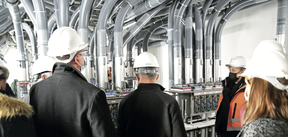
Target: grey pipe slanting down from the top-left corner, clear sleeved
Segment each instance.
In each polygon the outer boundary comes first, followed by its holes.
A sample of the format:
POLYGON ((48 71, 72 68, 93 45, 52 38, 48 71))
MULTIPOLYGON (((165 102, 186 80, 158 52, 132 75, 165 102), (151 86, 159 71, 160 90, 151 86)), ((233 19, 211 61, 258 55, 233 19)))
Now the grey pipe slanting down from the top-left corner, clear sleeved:
MULTIPOLYGON (((8 1, 7 2, 15 2, 15 1, 8 1)), ((17 41, 17 49, 20 54, 20 65, 19 67, 22 70, 22 78, 20 81, 25 81, 26 79, 26 62, 25 62, 25 50, 24 50, 24 37, 23 37, 23 29, 22 29, 22 20, 21 20, 21 15, 20 15, 20 9, 18 6, 18 0, 15 4, 10 4, 7 3, 9 7, 9 11, 11 13, 12 19, 13 19, 13 24, 14 24, 14 29, 15 29, 15 37, 17 41)))

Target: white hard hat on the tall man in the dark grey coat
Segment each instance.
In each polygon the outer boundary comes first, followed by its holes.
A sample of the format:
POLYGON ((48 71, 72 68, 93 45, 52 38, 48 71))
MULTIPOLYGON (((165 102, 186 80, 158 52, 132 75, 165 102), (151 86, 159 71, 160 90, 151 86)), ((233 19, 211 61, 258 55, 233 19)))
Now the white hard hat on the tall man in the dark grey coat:
POLYGON ((47 55, 51 57, 70 55, 68 60, 58 60, 57 62, 69 63, 75 56, 76 52, 87 47, 75 31, 70 27, 61 27, 56 29, 48 41, 47 55))

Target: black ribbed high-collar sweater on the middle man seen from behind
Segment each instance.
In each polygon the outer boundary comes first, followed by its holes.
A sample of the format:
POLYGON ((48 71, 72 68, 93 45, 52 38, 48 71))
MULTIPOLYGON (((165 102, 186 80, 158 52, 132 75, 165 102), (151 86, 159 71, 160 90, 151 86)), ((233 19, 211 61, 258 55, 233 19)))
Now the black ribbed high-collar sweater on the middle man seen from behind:
POLYGON ((178 102, 159 84, 138 84, 118 109, 118 137, 186 137, 178 102))

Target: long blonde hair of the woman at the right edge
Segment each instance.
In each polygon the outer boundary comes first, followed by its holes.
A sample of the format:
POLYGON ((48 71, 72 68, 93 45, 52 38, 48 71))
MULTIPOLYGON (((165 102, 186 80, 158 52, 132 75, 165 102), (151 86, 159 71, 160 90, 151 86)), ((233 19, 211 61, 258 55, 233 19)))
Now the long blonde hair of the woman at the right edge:
MULTIPOLYGON (((287 90, 279 90, 267 80, 257 77, 251 78, 249 82, 251 88, 249 100, 243 110, 243 124, 269 117, 288 121, 287 90)), ((288 80, 283 82, 287 83, 288 80)))

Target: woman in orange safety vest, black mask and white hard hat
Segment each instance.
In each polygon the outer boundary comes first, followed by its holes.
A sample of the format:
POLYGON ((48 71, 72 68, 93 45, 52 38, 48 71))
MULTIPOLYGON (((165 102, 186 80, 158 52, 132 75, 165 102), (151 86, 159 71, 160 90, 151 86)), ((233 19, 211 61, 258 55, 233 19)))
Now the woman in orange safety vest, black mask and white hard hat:
POLYGON ((215 132, 221 137, 236 137, 241 130, 240 110, 245 103, 245 77, 242 74, 249 60, 238 56, 230 60, 229 77, 222 80, 223 90, 218 102, 215 132))

